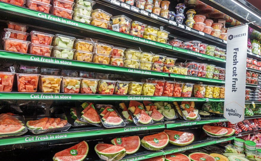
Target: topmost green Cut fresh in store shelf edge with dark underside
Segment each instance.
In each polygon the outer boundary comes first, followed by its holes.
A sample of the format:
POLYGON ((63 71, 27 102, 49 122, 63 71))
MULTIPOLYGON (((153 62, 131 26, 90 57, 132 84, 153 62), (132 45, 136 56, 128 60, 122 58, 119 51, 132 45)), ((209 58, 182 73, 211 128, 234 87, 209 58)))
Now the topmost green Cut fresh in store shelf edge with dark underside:
MULTIPOLYGON (((42 24, 42 26, 45 26, 46 28, 49 27, 50 29, 56 29, 56 30, 59 27, 60 27, 60 29, 66 28, 66 31, 78 33, 81 36, 91 36, 90 33, 92 33, 92 35, 95 35, 95 36, 98 35, 99 37, 101 37, 101 35, 102 35, 102 37, 104 39, 107 38, 107 40, 117 38, 117 39, 119 39, 118 40, 119 42, 122 42, 122 43, 124 42, 125 44, 133 44, 133 45, 136 44, 136 46, 145 45, 147 48, 154 47, 155 49, 157 48, 159 52, 168 50, 171 53, 173 51, 176 53, 182 53, 182 54, 179 54, 179 56, 183 56, 183 57, 185 54, 185 55, 193 56, 194 59, 207 59, 207 60, 217 61, 219 63, 226 62, 226 60, 220 59, 220 58, 215 58, 214 56, 196 53, 196 52, 181 49, 181 48, 175 48, 168 44, 163 44, 160 42, 155 42, 155 41, 143 39, 140 37, 134 37, 129 34, 124 34, 124 33, 112 31, 109 29, 104 29, 104 28, 100 28, 97 26, 80 23, 80 22, 77 22, 74 20, 69 20, 66 18, 60 18, 60 17, 54 16, 54 15, 37 12, 34 10, 30 10, 28 8, 17 7, 17 6, 14 6, 11 4, 6 4, 3 2, 0 2, 0 13, 1 13, 0 16, 4 16, 5 14, 8 14, 8 18, 12 18, 12 20, 16 20, 16 21, 21 20, 21 18, 19 19, 20 16, 26 17, 26 19, 23 19, 22 23, 26 23, 27 21, 29 23, 29 20, 34 20, 35 23, 37 23, 39 25, 42 24), (12 15, 12 17, 11 17, 11 15, 12 15), (20 16, 18 17, 16 15, 20 15, 20 16), (54 26, 55 26, 55 28, 54 28, 54 26), (83 29, 85 32, 83 32, 83 29), (86 32, 86 31, 88 31, 88 32, 86 32)), ((6 15, 6 17, 7 17, 7 15, 6 15)))

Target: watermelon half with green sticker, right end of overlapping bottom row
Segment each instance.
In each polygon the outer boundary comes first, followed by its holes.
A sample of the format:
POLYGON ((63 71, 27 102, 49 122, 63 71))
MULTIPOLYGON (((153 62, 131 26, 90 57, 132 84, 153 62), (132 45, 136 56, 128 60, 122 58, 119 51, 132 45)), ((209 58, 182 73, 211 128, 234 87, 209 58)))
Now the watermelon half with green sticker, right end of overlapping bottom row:
POLYGON ((188 132, 164 130, 169 137, 169 142, 173 145, 185 146, 194 141, 194 135, 188 132))

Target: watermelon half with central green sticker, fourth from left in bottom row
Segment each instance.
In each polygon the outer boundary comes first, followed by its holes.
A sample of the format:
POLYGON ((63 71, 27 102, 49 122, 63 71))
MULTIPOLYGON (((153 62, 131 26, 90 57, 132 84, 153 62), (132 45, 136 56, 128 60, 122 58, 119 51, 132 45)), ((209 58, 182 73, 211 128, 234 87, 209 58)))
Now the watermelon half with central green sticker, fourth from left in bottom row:
POLYGON ((141 145, 148 150, 160 150, 168 145, 169 138, 165 132, 144 136, 141 145))

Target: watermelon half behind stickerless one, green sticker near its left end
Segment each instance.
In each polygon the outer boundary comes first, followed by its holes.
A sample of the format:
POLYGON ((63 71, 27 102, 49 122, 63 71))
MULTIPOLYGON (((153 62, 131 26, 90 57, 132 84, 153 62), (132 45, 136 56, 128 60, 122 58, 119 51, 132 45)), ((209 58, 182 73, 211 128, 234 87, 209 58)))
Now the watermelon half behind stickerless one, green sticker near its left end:
POLYGON ((126 154, 133 154, 139 150, 141 140, 139 136, 129 136, 125 138, 114 138, 112 143, 114 145, 124 147, 126 154))

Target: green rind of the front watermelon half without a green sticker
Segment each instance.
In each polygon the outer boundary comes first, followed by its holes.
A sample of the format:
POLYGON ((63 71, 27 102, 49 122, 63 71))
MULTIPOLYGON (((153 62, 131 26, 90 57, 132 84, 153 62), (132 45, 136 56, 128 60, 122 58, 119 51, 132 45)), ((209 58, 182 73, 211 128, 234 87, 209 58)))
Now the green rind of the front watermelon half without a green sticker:
POLYGON ((103 160, 105 158, 108 158, 108 160, 121 160, 126 154, 125 149, 122 149, 121 151, 118 151, 117 153, 101 153, 97 150, 97 148, 96 148, 97 145, 94 147, 94 150, 96 151, 97 155, 103 160))

